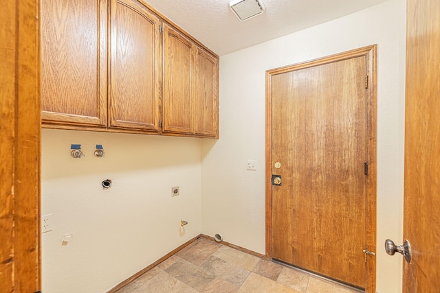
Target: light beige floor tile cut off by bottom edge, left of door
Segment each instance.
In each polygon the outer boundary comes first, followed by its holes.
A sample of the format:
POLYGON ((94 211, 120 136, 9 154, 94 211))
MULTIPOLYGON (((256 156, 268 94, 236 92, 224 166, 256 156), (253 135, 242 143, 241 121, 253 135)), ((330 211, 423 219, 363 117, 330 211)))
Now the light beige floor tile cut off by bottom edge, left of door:
POLYGON ((267 279, 253 272, 250 273, 248 279, 246 279, 245 283, 243 283, 239 291, 237 291, 237 293, 268 293, 268 292, 299 293, 298 291, 292 288, 286 287, 285 285, 281 285, 280 283, 276 283, 276 281, 272 281, 271 279, 267 279))

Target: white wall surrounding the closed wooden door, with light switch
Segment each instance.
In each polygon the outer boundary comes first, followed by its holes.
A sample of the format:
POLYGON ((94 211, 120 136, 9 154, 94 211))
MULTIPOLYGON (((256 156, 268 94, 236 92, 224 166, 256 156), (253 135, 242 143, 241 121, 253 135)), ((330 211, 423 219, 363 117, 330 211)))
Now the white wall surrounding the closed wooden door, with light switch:
POLYGON ((221 56, 220 139, 201 151, 203 233, 265 253, 265 71, 377 44, 377 291, 401 292, 401 257, 383 247, 402 237, 404 6, 391 0, 221 56))

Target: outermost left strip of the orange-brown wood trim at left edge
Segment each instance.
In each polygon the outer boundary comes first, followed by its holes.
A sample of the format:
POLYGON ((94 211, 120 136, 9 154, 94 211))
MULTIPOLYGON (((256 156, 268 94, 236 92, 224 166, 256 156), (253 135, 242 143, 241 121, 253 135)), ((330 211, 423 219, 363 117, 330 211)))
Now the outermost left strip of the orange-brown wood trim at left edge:
POLYGON ((15 23, 16 1, 0 10, 0 292, 14 286, 14 137, 15 137, 15 23))

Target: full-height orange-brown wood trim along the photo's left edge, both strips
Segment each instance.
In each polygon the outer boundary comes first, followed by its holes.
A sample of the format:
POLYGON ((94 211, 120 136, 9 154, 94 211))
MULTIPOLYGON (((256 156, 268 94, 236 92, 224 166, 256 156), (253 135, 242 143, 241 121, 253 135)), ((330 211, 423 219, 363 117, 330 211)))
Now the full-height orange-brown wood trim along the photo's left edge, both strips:
POLYGON ((2 4, 0 292, 37 292, 41 290, 39 6, 36 0, 2 4))

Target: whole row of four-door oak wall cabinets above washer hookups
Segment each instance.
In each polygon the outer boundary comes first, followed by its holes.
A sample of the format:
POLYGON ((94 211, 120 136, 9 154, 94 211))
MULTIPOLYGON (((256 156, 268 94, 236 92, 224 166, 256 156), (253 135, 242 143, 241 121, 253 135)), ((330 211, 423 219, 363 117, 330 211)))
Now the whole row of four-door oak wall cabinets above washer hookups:
POLYGON ((43 127, 218 138, 218 56, 136 0, 74 2, 41 1, 43 127))

